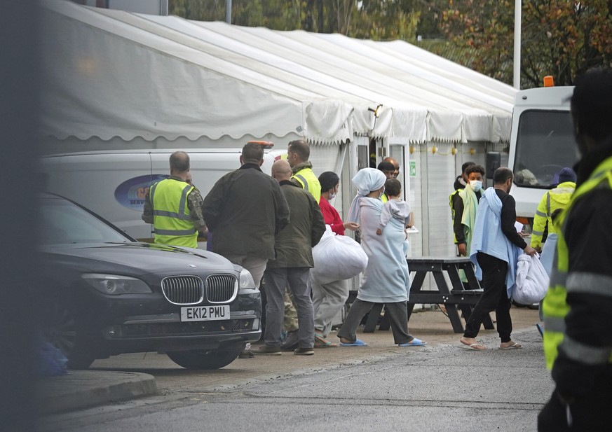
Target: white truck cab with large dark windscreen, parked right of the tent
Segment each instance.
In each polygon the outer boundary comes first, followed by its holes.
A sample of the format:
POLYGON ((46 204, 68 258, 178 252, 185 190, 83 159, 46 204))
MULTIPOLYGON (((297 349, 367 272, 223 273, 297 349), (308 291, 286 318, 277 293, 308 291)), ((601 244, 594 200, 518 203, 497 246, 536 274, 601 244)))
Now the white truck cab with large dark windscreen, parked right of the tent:
POLYGON ((531 225, 538 203, 554 186, 555 174, 578 162, 570 98, 573 87, 543 87, 517 92, 512 111, 508 167, 514 173, 510 194, 517 218, 531 225))

